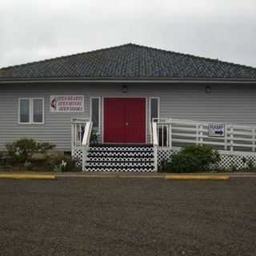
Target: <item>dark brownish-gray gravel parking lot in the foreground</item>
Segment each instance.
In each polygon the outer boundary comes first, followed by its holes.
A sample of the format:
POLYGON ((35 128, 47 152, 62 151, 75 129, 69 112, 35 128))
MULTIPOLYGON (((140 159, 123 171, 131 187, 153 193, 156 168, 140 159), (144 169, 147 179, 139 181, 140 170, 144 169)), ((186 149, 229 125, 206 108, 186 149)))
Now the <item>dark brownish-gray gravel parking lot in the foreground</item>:
POLYGON ((0 255, 256 255, 256 178, 0 180, 0 255))

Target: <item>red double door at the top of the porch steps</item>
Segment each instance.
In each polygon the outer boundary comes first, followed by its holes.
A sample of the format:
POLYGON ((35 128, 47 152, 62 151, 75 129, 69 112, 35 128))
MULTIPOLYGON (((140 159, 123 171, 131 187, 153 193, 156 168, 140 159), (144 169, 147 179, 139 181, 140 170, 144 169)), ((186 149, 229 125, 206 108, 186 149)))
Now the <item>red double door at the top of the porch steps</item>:
POLYGON ((146 142, 145 98, 104 99, 104 142, 146 142))

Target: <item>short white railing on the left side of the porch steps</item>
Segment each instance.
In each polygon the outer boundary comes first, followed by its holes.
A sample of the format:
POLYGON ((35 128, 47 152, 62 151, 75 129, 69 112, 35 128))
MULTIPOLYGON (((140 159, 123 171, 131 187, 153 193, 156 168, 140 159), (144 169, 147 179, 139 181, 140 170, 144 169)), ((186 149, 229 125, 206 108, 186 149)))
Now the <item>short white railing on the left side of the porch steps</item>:
POLYGON ((71 123, 72 157, 82 160, 82 170, 85 170, 93 123, 89 118, 73 118, 71 123))

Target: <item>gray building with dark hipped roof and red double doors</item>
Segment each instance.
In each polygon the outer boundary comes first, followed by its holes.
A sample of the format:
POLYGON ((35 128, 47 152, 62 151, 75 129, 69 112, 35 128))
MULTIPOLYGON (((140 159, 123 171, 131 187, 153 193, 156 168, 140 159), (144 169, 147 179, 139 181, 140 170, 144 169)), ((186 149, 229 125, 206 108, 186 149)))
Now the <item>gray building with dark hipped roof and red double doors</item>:
POLYGON ((152 118, 256 125, 256 68, 126 44, 0 70, 0 150, 34 138, 71 151, 71 120, 98 142, 146 145, 152 118))

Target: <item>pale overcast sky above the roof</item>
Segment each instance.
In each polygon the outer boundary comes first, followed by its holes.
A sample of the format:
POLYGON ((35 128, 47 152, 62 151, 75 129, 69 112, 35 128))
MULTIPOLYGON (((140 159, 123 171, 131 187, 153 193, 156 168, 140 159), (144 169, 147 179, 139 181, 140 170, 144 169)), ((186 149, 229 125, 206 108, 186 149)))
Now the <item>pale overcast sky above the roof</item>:
POLYGON ((127 42, 256 67, 256 0, 1 0, 0 67, 127 42))

